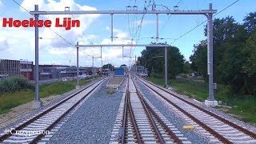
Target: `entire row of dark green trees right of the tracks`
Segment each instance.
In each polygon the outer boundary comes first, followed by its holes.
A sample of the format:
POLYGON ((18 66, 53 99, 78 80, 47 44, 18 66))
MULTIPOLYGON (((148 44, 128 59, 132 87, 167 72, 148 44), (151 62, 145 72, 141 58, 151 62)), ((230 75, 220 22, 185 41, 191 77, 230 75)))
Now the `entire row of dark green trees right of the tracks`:
MULTIPOLYGON (((224 84, 230 95, 256 95, 256 12, 246 15, 242 23, 233 17, 214 19, 214 82, 224 84)), ((207 27, 205 27, 205 36, 207 27)), ((138 57, 154 76, 164 75, 164 48, 146 47, 138 57)), ((168 78, 192 71, 208 82, 207 41, 194 45, 190 62, 177 47, 168 47, 168 78)))

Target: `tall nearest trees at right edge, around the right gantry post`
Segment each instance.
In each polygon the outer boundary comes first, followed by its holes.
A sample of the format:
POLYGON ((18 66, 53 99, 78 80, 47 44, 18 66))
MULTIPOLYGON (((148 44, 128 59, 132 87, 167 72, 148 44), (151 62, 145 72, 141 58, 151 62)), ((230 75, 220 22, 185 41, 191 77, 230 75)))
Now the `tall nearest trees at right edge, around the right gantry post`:
MULTIPOLYGON (((224 84, 231 95, 256 95, 255 27, 256 12, 243 23, 230 16, 214 19, 214 82, 224 84)), ((193 52, 191 69, 208 81, 206 40, 194 45, 193 52)))

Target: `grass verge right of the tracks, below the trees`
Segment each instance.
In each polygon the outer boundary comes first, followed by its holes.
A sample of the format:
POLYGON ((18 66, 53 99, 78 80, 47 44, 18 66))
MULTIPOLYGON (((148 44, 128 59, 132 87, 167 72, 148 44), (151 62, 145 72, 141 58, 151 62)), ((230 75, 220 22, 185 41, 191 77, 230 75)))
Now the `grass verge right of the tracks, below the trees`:
MULTIPOLYGON (((159 86, 164 86, 164 78, 148 78, 148 80, 159 86)), ((195 98, 200 102, 204 102, 209 95, 208 83, 177 79, 168 81, 168 85, 174 87, 178 93, 195 98)), ((244 122, 256 123, 256 96, 232 97, 227 94, 225 86, 218 84, 218 89, 214 90, 214 98, 224 103, 218 109, 244 122)))

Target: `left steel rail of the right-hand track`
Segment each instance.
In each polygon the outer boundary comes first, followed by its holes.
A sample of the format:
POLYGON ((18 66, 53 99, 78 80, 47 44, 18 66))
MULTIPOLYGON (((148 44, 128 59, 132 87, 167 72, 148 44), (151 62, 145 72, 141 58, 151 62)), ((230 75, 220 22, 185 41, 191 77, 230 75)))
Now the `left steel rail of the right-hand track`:
MULTIPOLYGON (((139 79, 140 80, 140 79, 139 79)), ((140 80, 141 81, 141 80, 140 80)), ((142 81, 141 81, 142 82, 142 81)), ((145 82, 142 82, 146 85, 145 82)), ((146 85, 147 86, 147 85, 146 85)), ((151 88, 150 86, 147 86, 150 88, 150 90, 153 90, 156 94, 158 94, 161 98, 165 99, 167 102, 169 102, 171 105, 175 106, 178 110, 180 110, 183 114, 186 114, 186 116, 188 116, 189 118, 191 118, 194 122, 197 122, 199 126, 202 126, 202 128, 204 128, 205 130, 207 130, 210 134, 213 134, 215 138, 218 138, 220 141, 222 141, 223 143, 228 143, 231 144, 232 142, 230 142, 230 140, 228 140, 227 138, 223 137, 221 134, 218 134, 218 132, 216 132, 215 130, 213 130, 212 128, 210 128, 210 126, 207 126, 205 123, 201 122, 200 120, 198 120, 198 118, 195 118, 193 115, 189 114, 188 112, 186 112, 186 110, 183 110, 180 106, 176 105, 174 102, 171 102, 168 98, 164 97, 162 94, 160 94, 157 90, 154 90, 153 88, 151 88)))

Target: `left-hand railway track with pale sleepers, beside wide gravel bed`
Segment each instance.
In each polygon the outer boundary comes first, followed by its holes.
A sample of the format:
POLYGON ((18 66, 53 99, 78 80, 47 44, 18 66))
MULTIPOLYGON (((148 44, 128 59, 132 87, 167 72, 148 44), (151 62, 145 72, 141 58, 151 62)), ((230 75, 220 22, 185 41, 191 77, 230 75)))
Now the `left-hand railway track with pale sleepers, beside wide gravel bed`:
POLYGON ((34 115, 0 137, 0 143, 36 143, 106 79, 99 80, 34 115))

